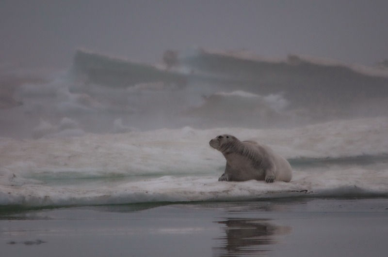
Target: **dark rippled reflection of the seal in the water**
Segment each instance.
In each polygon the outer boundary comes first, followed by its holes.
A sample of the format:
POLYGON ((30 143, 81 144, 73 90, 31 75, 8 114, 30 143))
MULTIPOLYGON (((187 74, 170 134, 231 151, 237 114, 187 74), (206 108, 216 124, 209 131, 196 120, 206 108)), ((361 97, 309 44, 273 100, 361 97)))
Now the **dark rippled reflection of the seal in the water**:
POLYGON ((269 249, 266 245, 275 244, 276 237, 288 235, 292 227, 278 226, 269 219, 227 219, 220 221, 225 224, 225 237, 216 238, 213 256, 263 255, 269 249))

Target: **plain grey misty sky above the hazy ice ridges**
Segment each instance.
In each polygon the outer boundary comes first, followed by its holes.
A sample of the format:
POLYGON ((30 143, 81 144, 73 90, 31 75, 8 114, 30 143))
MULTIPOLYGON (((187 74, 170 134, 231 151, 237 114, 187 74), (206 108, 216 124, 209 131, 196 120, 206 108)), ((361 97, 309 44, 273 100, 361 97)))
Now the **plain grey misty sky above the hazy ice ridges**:
POLYGON ((248 49, 372 65, 387 0, 1 0, 0 64, 65 68, 77 47, 156 62, 166 49, 248 49))

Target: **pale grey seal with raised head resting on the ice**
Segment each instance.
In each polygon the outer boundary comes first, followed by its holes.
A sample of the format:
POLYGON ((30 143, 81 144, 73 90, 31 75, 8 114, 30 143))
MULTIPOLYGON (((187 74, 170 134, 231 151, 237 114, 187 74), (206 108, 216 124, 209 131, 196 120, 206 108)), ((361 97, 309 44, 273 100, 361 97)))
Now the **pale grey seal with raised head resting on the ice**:
POLYGON ((209 144, 226 159, 225 173, 218 181, 291 181, 290 163, 266 145, 231 135, 217 136, 209 144))

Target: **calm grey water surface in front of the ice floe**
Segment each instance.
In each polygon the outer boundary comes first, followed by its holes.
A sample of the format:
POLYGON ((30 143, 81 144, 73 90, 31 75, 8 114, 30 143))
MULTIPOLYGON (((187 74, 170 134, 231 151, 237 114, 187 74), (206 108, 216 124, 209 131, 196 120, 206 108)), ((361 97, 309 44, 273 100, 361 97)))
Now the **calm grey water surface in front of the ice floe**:
POLYGON ((384 256, 388 199, 1 212, 4 256, 384 256))

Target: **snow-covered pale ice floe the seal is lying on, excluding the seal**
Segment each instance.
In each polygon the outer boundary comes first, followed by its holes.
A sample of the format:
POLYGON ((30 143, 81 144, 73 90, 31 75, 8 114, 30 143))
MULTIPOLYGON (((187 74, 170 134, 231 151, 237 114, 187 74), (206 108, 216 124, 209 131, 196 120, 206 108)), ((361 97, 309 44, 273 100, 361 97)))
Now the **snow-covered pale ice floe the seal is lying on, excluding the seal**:
POLYGON ((0 138, 0 204, 387 196, 386 165, 335 162, 360 155, 387 158, 387 127, 388 118, 366 118, 284 130, 184 127, 38 140, 0 138), (288 159, 334 163, 305 169, 295 166, 289 183, 218 182, 225 159, 210 148, 209 140, 224 133, 259 140, 288 159))

